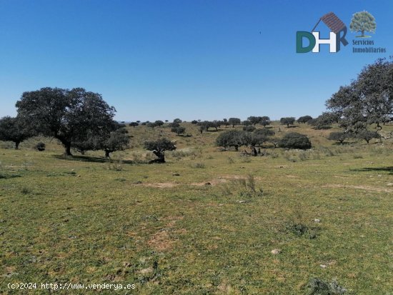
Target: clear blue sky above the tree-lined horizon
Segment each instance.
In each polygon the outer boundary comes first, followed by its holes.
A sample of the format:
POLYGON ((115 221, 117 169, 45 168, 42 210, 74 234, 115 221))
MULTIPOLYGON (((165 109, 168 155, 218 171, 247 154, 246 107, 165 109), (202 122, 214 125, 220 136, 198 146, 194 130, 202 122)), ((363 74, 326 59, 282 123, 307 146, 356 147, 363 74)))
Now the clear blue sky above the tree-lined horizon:
MULTIPOLYGON (((0 0, 0 117, 24 91, 83 87, 118 121, 318 116, 339 86, 393 55, 393 1, 0 0), (352 15, 377 22, 352 53, 352 15), (333 11, 349 45, 297 54, 296 32, 333 11)), ((329 29, 317 26, 322 37, 329 29)))

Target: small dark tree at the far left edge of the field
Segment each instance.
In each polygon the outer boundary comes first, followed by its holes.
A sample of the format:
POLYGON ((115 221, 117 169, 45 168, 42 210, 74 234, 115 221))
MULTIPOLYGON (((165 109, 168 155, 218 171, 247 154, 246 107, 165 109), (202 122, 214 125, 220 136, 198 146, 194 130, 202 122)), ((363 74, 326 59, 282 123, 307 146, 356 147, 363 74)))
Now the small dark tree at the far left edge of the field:
MULTIPOLYGON (((26 124, 29 124, 29 122, 26 122, 26 124)), ((24 128, 24 124, 19 117, 5 116, 0 119, 1 141, 13 141, 15 149, 19 149, 19 144, 28 138, 29 132, 24 128)))

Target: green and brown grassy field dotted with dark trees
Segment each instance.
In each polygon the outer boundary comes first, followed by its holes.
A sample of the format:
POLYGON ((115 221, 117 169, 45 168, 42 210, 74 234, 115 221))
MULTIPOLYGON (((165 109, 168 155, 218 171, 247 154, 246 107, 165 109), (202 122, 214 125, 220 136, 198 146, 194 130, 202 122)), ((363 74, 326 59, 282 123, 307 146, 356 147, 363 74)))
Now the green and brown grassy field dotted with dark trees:
POLYGON ((347 294, 393 294, 392 140, 339 145, 326 139, 338 129, 280 126, 279 136, 307 134, 312 150, 267 146, 254 157, 219 151, 225 128, 183 125, 191 136, 128 126, 131 149, 111 160, 61 156, 51 139, 42 152, 32 148, 39 139, 19 150, 2 143, 0 294, 49 293, 10 282, 136 286, 101 294, 307 294, 313 278, 335 279, 347 294), (158 136, 178 149, 166 164, 146 164, 154 155, 142 142, 158 136))

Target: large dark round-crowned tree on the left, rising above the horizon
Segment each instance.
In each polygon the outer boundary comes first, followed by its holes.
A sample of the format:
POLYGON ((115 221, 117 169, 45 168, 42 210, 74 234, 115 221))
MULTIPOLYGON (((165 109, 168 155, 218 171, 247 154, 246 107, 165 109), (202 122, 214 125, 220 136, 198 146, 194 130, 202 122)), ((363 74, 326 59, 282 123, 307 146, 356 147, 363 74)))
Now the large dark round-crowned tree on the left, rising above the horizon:
POLYGON ((114 107, 100 94, 83 88, 24 92, 16 108, 21 120, 29 122, 30 131, 58 139, 66 155, 71 155, 74 141, 108 134, 115 124, 114 107))

